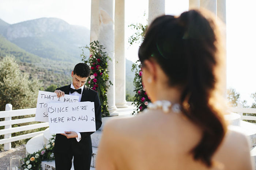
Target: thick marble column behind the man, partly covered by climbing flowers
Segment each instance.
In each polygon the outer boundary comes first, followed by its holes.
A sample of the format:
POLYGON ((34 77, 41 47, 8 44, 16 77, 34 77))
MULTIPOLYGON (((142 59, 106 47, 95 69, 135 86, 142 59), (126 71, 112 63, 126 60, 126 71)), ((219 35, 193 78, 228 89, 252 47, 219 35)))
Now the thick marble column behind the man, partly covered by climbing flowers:
POLYGON ((91 1, 91 36, 90 40, 98 40, 105 47, 111 60, 108 62, 109 80, 113 83, 108 89, 108 110, 110 116, 117 116, 115 105, 115 58, 114 58, 114 21, 113 0, 91 1))

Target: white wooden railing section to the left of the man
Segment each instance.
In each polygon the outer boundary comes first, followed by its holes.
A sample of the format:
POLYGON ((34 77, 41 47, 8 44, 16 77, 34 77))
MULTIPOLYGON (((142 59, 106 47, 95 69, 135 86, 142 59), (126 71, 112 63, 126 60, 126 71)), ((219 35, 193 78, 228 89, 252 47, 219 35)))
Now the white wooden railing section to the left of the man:
POLYGON ((19 110, 12 110, 11 104, 5 105, 5 111, 0 111, 0 118, 5 118, 4 121, 0 122, 0 126, 4 126, 4 129, 0 130, 0 135, 4 135, 4 139, 0 139, 0 144, 4 144, 4 150, 10 150, 11 149, 11 142, 19 141, 22 139, 28 139, 32 138, 38 134, 43 133, 44 131, 38 131, 34 133, 28 133, 24 135, 19 135, 16 137, 11 137, 12 133, 26 131, 26 130, 32 130, 32 129, 38 129, 41 127, 48 127, 49 123, 36 123, 36 124, 29 124, 26 126, 19 126, 19 127, 12 127, 12 124, 18 124, 18 123, 27 123, 27 122, 34 122, 35 117, 31 118, 23 118, 23 119, 14 119, 12 120, 12 117, 14 116, 24 116, 24 115, 33 115, 35 114, 36 108, 28 108, 28 109, 19 109, 19 110))

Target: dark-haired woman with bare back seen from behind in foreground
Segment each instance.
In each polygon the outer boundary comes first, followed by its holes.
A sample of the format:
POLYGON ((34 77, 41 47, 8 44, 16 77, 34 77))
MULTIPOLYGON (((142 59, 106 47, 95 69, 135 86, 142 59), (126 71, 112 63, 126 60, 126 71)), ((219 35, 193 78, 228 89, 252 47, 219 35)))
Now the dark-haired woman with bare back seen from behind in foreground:
POLYGON ((139 49, 153 103, 105 125, 97 169, 251 170, 245 135, 227 130, 223 120, 222 58, 210 17, 192 10, 155 19, 139 49))

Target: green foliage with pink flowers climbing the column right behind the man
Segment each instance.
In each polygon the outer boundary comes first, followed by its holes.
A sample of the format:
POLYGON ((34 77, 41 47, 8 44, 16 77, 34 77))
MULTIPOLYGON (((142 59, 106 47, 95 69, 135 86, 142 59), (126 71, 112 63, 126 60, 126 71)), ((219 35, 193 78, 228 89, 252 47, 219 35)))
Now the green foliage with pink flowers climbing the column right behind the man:
POLYGON ((88 63, 91 66, 91 76, 90 80, 86 83, 86 86, 97 91, 99 94, 99 99, 101 100, 101 112, 103 116, 108 116, 108 102, 107 102, 107 90, 110 85, 113 85, 109 80, 108 75, 108 60, 111 60, 102 45, 99 45, 99 41, 93 41, 90 43, 90 47, 86 46, 82 48, 82 60, 84 63, 88 63), (90 57, 84 54, 84 49, 89 49, 91 52, 90 57))

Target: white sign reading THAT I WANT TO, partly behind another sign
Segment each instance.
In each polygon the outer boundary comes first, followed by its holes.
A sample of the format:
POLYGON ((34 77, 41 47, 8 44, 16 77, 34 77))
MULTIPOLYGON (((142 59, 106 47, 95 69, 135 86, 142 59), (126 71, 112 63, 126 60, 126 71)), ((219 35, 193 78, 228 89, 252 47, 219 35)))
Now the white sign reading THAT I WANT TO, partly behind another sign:
POLYGON ((38 92, 37 97, 37 110, 35 111, 35 121, 48 122, 48 103, 50 102, 68 102, 75 103, 78 102, 78 96, 72 96, 65 94, 64 97, 57 97, 56 93, 48 91, 38 92))

